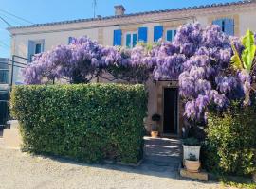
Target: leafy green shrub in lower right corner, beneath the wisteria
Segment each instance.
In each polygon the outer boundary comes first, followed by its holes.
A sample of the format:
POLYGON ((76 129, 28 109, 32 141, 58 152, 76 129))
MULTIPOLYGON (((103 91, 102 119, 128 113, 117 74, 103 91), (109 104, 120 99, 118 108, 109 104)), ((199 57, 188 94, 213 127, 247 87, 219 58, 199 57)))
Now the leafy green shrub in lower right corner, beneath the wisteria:
POLYGON ((204 165, 209 171, 250 175, 256 170, 256 111, 233 104, 229 111, 209 113, 204 165))

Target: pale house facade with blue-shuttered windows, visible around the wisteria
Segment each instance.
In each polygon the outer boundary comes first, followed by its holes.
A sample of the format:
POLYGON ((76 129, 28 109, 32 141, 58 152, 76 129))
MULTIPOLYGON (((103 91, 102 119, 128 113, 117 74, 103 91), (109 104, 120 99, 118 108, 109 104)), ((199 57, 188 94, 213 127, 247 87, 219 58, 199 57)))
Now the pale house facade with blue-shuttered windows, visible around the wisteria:
MULTIPOLYGON (((247 29, 256 31, 256 1, 213 4, 184 9, 125 14, 123 6, 115 7, 115 15, 32 26, 9 27, 11 54, 31 59, 34 54, 50 50, 60 43, 70 43, 72 37, 88 36, 103 45, 122 45, 131 48, 137 42, 154 43, 160 38, 173 41, 178 26, 199 22, 202 26, 215 24, 229 35, 241 36, 247 29)), ((19 69, 14 81, 22 82, 19 69)), ((164 135, 180 135, 182 106, 178 99, 178 81, 147 83, 149 117, 146 128, 151 129, 151 115, 162 117, 159 131, 164 135)))

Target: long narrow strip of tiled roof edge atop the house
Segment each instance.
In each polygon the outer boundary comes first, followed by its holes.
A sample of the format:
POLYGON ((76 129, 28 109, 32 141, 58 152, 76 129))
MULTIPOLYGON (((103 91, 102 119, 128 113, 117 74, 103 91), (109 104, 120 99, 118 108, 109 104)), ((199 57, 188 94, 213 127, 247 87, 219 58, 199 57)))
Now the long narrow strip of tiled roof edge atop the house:
POLYGON ((155 10, 155 11, 145 11, 145 12, 124 14, 124 15, 120 15, 120 16, 115 15, 115 16, 106 16, 106 17, 97 17, 97 18, 77 19, 77 20, 70 20, 70 21, 45 23, 45 24, 34 24, 34 25, 28 25, 28 26, 11 26, 11 27, 8 27, 8 30, 21 29, 21 28, 30 28, 30 27, 40 27, 40 26, 66 25, 66 24, 73 24, 73 23, 110 20, 110 19, 117 19, 117 18, 124 18, 124 17, 133 17, 133 16, 140 16, 140 15, 147 15, 147 14, 155 14, 155 13, 176 12, 176 11, 192 10, 192 9, 206 9, 206 8, 233 6, 233 5, 245 5, 245 4, 250 4, 250 3, 256 3, 256 0, 244 0, 244 1, 231 2, 231 3, 210 4, 210 5, 203 5, 203 6, 180 8, 180 9, 164 9, 164 10, 155 10))

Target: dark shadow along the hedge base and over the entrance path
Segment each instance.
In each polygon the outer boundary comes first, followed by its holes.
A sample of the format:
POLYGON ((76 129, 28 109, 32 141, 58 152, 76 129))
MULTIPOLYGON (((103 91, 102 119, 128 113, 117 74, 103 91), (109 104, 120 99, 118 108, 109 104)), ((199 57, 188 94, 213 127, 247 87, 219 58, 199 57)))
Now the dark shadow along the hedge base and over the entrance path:
MULTIPOLYGON (((181 163, 181 142, 177 139, 153 139, 145 137, 144 159, 137 166, 119 163, 79 163, 65 158, 41 156, 60 163, 72 163, 79 166, 116 170, 131 174, 142 174, 159 178, 188 180, 179 176, 181 163)), ((190 180, 191 181, 191 180, 190 180)))

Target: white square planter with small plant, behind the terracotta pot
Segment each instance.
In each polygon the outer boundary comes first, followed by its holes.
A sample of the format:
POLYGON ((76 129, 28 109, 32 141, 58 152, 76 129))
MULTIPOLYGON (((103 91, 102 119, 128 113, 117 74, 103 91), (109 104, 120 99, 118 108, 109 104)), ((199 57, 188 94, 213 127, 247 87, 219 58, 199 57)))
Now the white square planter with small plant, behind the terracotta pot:
POLYGON ((200 160, 201 144, 196 138, 187 138, 183 140, 183 160, 190 158, 190 154, 195 155, 197 160, 200 160))

